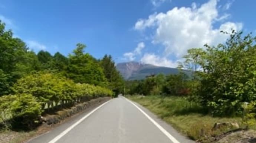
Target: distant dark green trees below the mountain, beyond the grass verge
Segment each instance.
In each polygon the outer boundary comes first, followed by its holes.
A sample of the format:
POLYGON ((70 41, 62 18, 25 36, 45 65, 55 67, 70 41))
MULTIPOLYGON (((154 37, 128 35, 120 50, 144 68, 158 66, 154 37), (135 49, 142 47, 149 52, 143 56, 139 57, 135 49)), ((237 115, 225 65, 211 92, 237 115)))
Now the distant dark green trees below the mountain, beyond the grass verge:
POLYGON ((190 93, 191 81, 185 73, 158 74, 148 76, 145 80, 127 81, 126 88, 128 94, 143 95, 188 95, 190 93))

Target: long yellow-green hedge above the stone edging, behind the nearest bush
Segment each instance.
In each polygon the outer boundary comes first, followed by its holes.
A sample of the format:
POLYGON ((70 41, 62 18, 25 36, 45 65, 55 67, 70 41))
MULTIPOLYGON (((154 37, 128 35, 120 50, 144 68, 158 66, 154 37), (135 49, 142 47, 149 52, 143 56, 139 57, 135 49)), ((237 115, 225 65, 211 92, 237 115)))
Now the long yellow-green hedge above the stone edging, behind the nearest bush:
POLYGON ((53 73, 38 72, 19 79, 14 85, 15 93, 31 94, 41 104, 53 106, 56 104, 74 103, 81 98, 112 96, 112 91, 100 86, 74 83, 66 77, 53 73))

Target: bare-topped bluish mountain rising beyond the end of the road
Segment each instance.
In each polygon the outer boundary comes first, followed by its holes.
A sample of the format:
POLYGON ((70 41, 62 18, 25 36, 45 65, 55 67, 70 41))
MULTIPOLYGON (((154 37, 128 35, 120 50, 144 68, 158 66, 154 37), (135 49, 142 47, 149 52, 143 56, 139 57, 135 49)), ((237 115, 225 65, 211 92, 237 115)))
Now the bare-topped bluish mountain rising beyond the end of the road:
MULTIPOLYGON (((139 62, 125 62, 116 64, 118 69, 125 80, 141 80, 145 79, 150 74, 177 74, 179 70, 171 67, 160 67, 152 64, 143 64, 139 62)), ((189 71, 184 70, 189 74, 189 71)))

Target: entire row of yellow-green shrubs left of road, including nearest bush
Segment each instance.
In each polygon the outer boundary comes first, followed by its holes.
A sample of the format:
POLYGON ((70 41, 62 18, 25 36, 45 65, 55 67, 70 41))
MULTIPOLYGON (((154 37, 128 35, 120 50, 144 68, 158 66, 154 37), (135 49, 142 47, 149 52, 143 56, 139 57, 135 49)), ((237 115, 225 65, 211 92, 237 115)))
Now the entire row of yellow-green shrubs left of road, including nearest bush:
POLYGON ((43 72, 19 79, 12 90, 12 95, 0 97, 0 124, 4 127, 12 122, 31 128, 46 109, 113 95, 104 87, 74 83, 58 74, 43 72))

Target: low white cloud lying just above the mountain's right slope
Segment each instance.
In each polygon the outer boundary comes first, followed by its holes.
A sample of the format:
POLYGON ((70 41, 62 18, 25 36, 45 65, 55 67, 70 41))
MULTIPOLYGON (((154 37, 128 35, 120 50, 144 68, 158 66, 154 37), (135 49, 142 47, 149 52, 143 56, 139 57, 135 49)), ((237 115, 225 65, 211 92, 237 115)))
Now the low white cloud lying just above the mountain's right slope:
POLYGON ((171 61, 166 57, 160 57, 155 55, 154 53, 145 53, 141 58, 142 63, 153 64, 155 66, 164 66, 164 67, 177 67, 177 61, 171 61))

